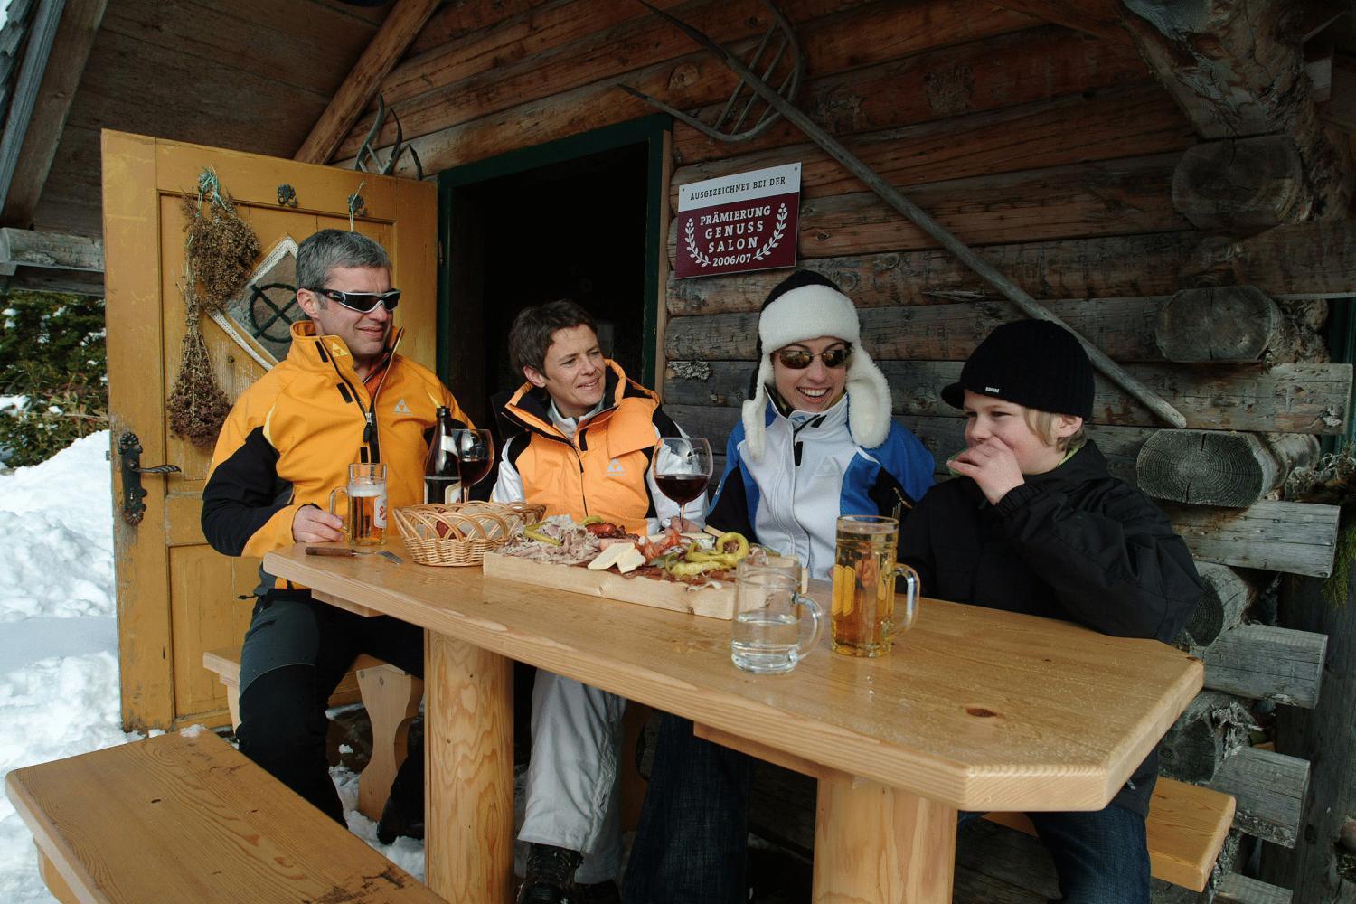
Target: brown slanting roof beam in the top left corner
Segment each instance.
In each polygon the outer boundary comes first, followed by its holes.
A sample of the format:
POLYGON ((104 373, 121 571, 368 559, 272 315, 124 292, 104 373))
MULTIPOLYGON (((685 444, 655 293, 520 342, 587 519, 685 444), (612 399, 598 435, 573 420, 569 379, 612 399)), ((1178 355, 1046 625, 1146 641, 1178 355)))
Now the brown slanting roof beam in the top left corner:
POLYGON ((34 99, 33 117, 23 136, 23 146, 3 195, 0 224, 28 228, 38 209, 38 198, 52 171, 52 160, 66 127, 71 102, 76 96, 89 47, 103 22, 107 0, 66 0, 47 56, 42 83, 34 99))

